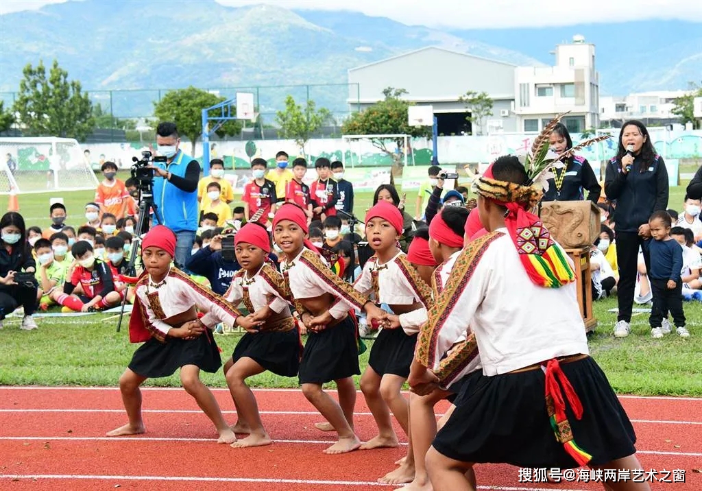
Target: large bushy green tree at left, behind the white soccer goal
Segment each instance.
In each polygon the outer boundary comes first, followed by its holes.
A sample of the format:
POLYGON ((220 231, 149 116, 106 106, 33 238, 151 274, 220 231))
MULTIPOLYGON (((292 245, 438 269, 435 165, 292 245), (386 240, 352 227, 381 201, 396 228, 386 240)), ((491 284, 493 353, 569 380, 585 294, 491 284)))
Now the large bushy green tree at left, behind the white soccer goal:
POLYGON ((20 92, 13 110, 26 136, 60 136, 84 140, 95 129, 92 103, 81 93, 81 83, 68 80, 68 72, 53 65, 46 78, 46 68, 39 60, 37 68, 27 64, 22 70, 20 92))

